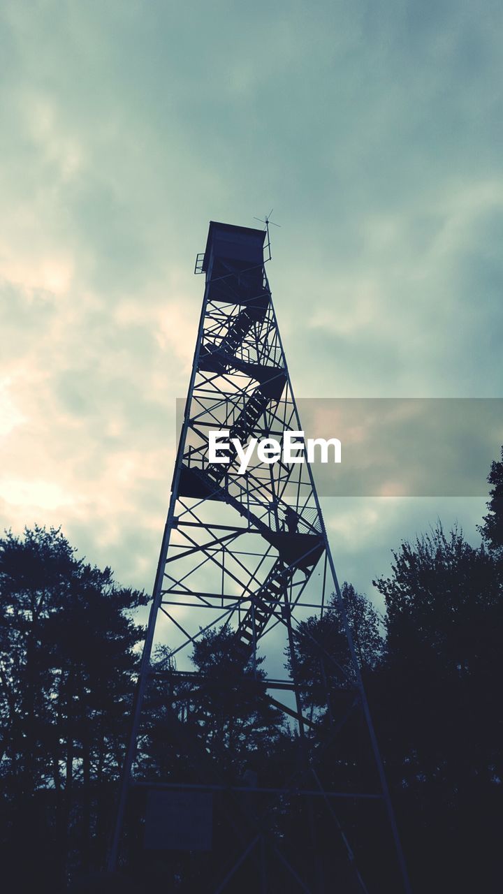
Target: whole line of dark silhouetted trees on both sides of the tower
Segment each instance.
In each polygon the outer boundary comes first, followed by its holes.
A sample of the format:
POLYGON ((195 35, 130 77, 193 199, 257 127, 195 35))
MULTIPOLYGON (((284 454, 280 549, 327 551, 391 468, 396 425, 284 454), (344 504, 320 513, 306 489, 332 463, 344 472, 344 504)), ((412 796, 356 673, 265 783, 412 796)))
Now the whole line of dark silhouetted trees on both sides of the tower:
MULTIPOLYGON (((383 618, 352 586, 343 589, 415 894, 500 890, 503 451, 489 482, 481 545, 440 526, 401 544, 388 578, 374 581, 383 618)), ((0 595, 3 881, 64 891, 103 866, 144 635, 136 619, 147 597, 115 585, 110 569, 77 559, 60 531, 41 527, 0 541, 0 595)), ((303 704, 322 729, 347 679, 336 601, 294 639, 303 704)), ((166 682, 149 692, 140 772, 169 778, 176 764, 191 780, 192 762, 183 766, 183 746, 166 732, 176 716, 197 730, 221 772, 273 785, 279 768, 294 765, 294 730, 260 697, 262 671, 235 651, 227 628, 200 637, 192 661, 200 682, 190 713, 183 690, 178 704, 166 698, 166 682)), ((361 733, 347 733, 348 755, 361 733)), ((325 762, 320 772, 340 782, 329 748, 325 762)), ((277 822, 300 835, 293 816, 277 822)), ((371 839, 371 826, 367 833, 371 839)), ((164 890, 177 890, 190 872, 181 866, 154 867, 147 882, 158 887, 164 877, 164 890)), ((343 881, 341 890, 352 889, 343 881)))

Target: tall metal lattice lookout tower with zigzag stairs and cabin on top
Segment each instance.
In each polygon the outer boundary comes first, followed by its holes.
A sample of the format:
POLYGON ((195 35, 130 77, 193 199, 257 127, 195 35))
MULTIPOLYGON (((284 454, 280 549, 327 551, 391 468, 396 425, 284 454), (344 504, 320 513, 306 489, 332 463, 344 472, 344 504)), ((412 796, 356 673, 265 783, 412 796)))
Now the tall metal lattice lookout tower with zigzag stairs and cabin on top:
POLYGON ((147 815, 148 847, 171 855, 170 865, 173 853, 182 859, 185 851, 191 852, 191 865, 200 862, 205 886, 198 888, 192 876, 183 887, 190 873, 179 873, 176 890, 409 891, 311 468, 255 460, 240 475, 232 450, 226 465, 209 461, 211 429, 227 430, 243 444, 251 437, 281 441, 286 430, 302 430, 264 250, 269 259, 267 227, 264 232, 212 222, 206 250, 196 261, 195 272, 206 275, 206 287, 109 866, 121 864, 121 854, 127 861, 128 848, 136 847, 128 831, 131 815, 140 827, 147 815), (331 594, 344 654, 335 659, 314 644, 329 706, 320 724, 316 705, 306 704, 303 695, 295 637, 307 618, 324 617, 331 594), (201 637, 222 625, 237 665, 248 671, 233 686, 243 699, 259 699, 296 725, 292 738, 299 756, 286 778, 280 770, 272 782, 254 772, 233 778, 212 758, 208 740, 201 741, 202 721, 191 705, 205 682, 193 669, 191 653, 201 637), (258 654, 266 656, 265 678, 258 654), (327 671, 330 662, 337 664, 336 692, 328 691, 327 678, 334 679, 333 667, 327 671), (172 755, 164 776, 162 760, 142 760, 149 712, 159 704, 165 711, 166 753, 172 755), (323 763, 327 754, 329 772, 323 763), (183 842, 187 810, 192 825, 200 822, 201 838, 209 824, 217 827, 213 862, 190 835, 183 842), (284 820, 291 815, 302 817, 304 848, 298 847, 298 829, 295 848, 289 846, 284 820), (381 833, 382 845, 365 845, 376 836, 380 842, 381 833), (388 847, 388 856, 381 847, 388 847), (378 849, 374 874, 372 851, 378 849))

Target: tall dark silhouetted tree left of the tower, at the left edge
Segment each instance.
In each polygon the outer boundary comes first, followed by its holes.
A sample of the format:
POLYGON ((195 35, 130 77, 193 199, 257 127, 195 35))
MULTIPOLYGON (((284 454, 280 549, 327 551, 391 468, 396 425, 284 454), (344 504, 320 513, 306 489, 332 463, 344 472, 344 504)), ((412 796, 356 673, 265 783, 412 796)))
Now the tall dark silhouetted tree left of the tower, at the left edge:
POLYGON ((55 890, 98 860, 142 637, 131 612, 146 597, 38 526, 0 540, 0 596, 4 855, 27 883, 50 858, 55 890))

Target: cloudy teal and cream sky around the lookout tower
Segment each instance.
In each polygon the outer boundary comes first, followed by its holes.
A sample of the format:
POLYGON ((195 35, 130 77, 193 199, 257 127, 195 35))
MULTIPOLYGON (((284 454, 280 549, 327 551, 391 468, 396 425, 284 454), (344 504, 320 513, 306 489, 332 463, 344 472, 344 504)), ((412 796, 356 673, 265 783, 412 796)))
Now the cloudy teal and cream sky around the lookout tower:
MULTIPOLYGON (((4 0, 0 525, 150 588, 210 219, 274 207, 298 397, 499 397, 492 0, 4 0)), ((496 457, 495 457, 496 458, 496 457)), ((484 499, 323 502, 341 578, 484 499)))

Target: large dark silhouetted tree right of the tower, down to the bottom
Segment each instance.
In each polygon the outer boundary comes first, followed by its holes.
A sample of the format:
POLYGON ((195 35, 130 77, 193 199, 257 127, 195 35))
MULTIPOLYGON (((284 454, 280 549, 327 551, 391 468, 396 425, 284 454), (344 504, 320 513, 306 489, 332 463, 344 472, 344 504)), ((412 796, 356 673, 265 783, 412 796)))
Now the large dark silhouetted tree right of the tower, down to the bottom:
POLYGON ((457 529, 446 536, 440 525, 393 555, 391 575, 376 582, 388 635, 377 726, 403 805, 416 887, 496 890, 503 806, 498 565, 483 545, 466 543, 457 529))

